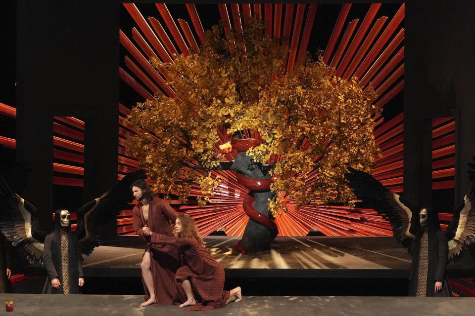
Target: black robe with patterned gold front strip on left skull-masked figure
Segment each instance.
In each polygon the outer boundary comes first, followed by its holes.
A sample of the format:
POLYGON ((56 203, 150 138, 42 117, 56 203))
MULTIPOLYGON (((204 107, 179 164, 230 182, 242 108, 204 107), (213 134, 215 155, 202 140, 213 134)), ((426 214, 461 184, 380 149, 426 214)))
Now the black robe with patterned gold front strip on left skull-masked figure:
POLYGON ((68 286, 66 294, 81 294, 79 287, 79 278, 84 277, 81 266, 81 253, 79 250, 76 234, 69 231, 65 232, 67 246, 61 242, 61 232, 56 229, 45 238, 45 250, 43 250, 43 263, 48 274, 47 293, 65 294, 64 287, 68 286), (66 253, 67 252, 67 253, 66 253), (66 260, 67 258, 67 260, 66 260), (67 269, 63 269, 67 265, 67 269), (69 276, 63 277, 63 271, 69 276), (61 285, 59 289, 51 286, 51 280, 57 277, 61 285), (69 292, 69 293, 68 293, 69 292))

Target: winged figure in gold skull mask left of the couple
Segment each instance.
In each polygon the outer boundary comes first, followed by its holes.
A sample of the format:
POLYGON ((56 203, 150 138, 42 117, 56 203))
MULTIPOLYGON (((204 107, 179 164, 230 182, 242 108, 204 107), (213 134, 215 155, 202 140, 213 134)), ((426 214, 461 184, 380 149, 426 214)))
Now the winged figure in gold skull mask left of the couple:
POLYGON ((28 262, 45 266, 52 293, 79 293, 79 286, 84 284, 82 255, 89 256, 109 237, 104 228, 132 200, 132 183, 144 177, 143 170, 129 173, 112 189, 82 206, 77 211, 76 232, 71 231, 70 212, 57 210, 54 231, 49 235, 40 228, 37 208, 14 193, 0 177, 0 230, 28 262))

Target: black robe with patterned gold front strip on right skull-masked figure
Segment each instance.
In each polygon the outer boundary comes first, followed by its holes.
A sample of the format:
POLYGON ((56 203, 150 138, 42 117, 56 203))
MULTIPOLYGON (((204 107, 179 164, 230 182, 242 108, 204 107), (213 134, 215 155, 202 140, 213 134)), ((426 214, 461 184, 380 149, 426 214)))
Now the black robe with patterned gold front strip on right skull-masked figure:
POLYGON ((448 261, 448 242, 440 229, 420 230, 411 249, 412 268, 409 283, 409 296, 418 296, 418 287, 423 296, 451 296, 449 283, 445 274, 448 261), (426 236, 425 237, 425 234, 426 236), (424 238, 423 238, 424 237, 424 238), (427 238, 427 250, 421 243, 427 238), (424 277, 423 277, 424 276, 424 277), (435 282, 442 282, 442 290, 434 293, 435 282), (419 284, 419 286, 418 286, 419 284), (425 294, 425 295, 424 295, 425 294))

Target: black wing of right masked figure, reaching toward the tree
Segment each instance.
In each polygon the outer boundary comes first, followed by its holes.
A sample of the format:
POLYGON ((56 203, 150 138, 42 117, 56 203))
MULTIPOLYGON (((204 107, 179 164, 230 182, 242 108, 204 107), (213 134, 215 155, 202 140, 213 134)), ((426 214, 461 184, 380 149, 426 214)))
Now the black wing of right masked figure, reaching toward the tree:
POLYGON ((414 235, 411 223, 415 217, 415 208, 403 197, 386 189, 369 173, 348 168, 345 176, 358 199, 367 207, 375 209, 392 226, 394 238, 408 251, 411 250, 414 235))

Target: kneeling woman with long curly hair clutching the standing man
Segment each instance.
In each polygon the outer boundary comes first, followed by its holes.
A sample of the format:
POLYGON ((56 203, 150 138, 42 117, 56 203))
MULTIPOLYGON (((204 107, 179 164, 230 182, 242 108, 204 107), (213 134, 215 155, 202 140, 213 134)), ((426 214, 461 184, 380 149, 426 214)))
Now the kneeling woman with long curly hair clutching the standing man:
POLYGON ((175 291, 180 307, 191 306, 190 311, 205 311, 239 302, 241 288, 224 288, 224 269, 203 246, 194 220, 187 214, 179 215, 174 229, 175 237, 150 232, 150 242, 178 245, 182 267, 175 275, 175 291))

